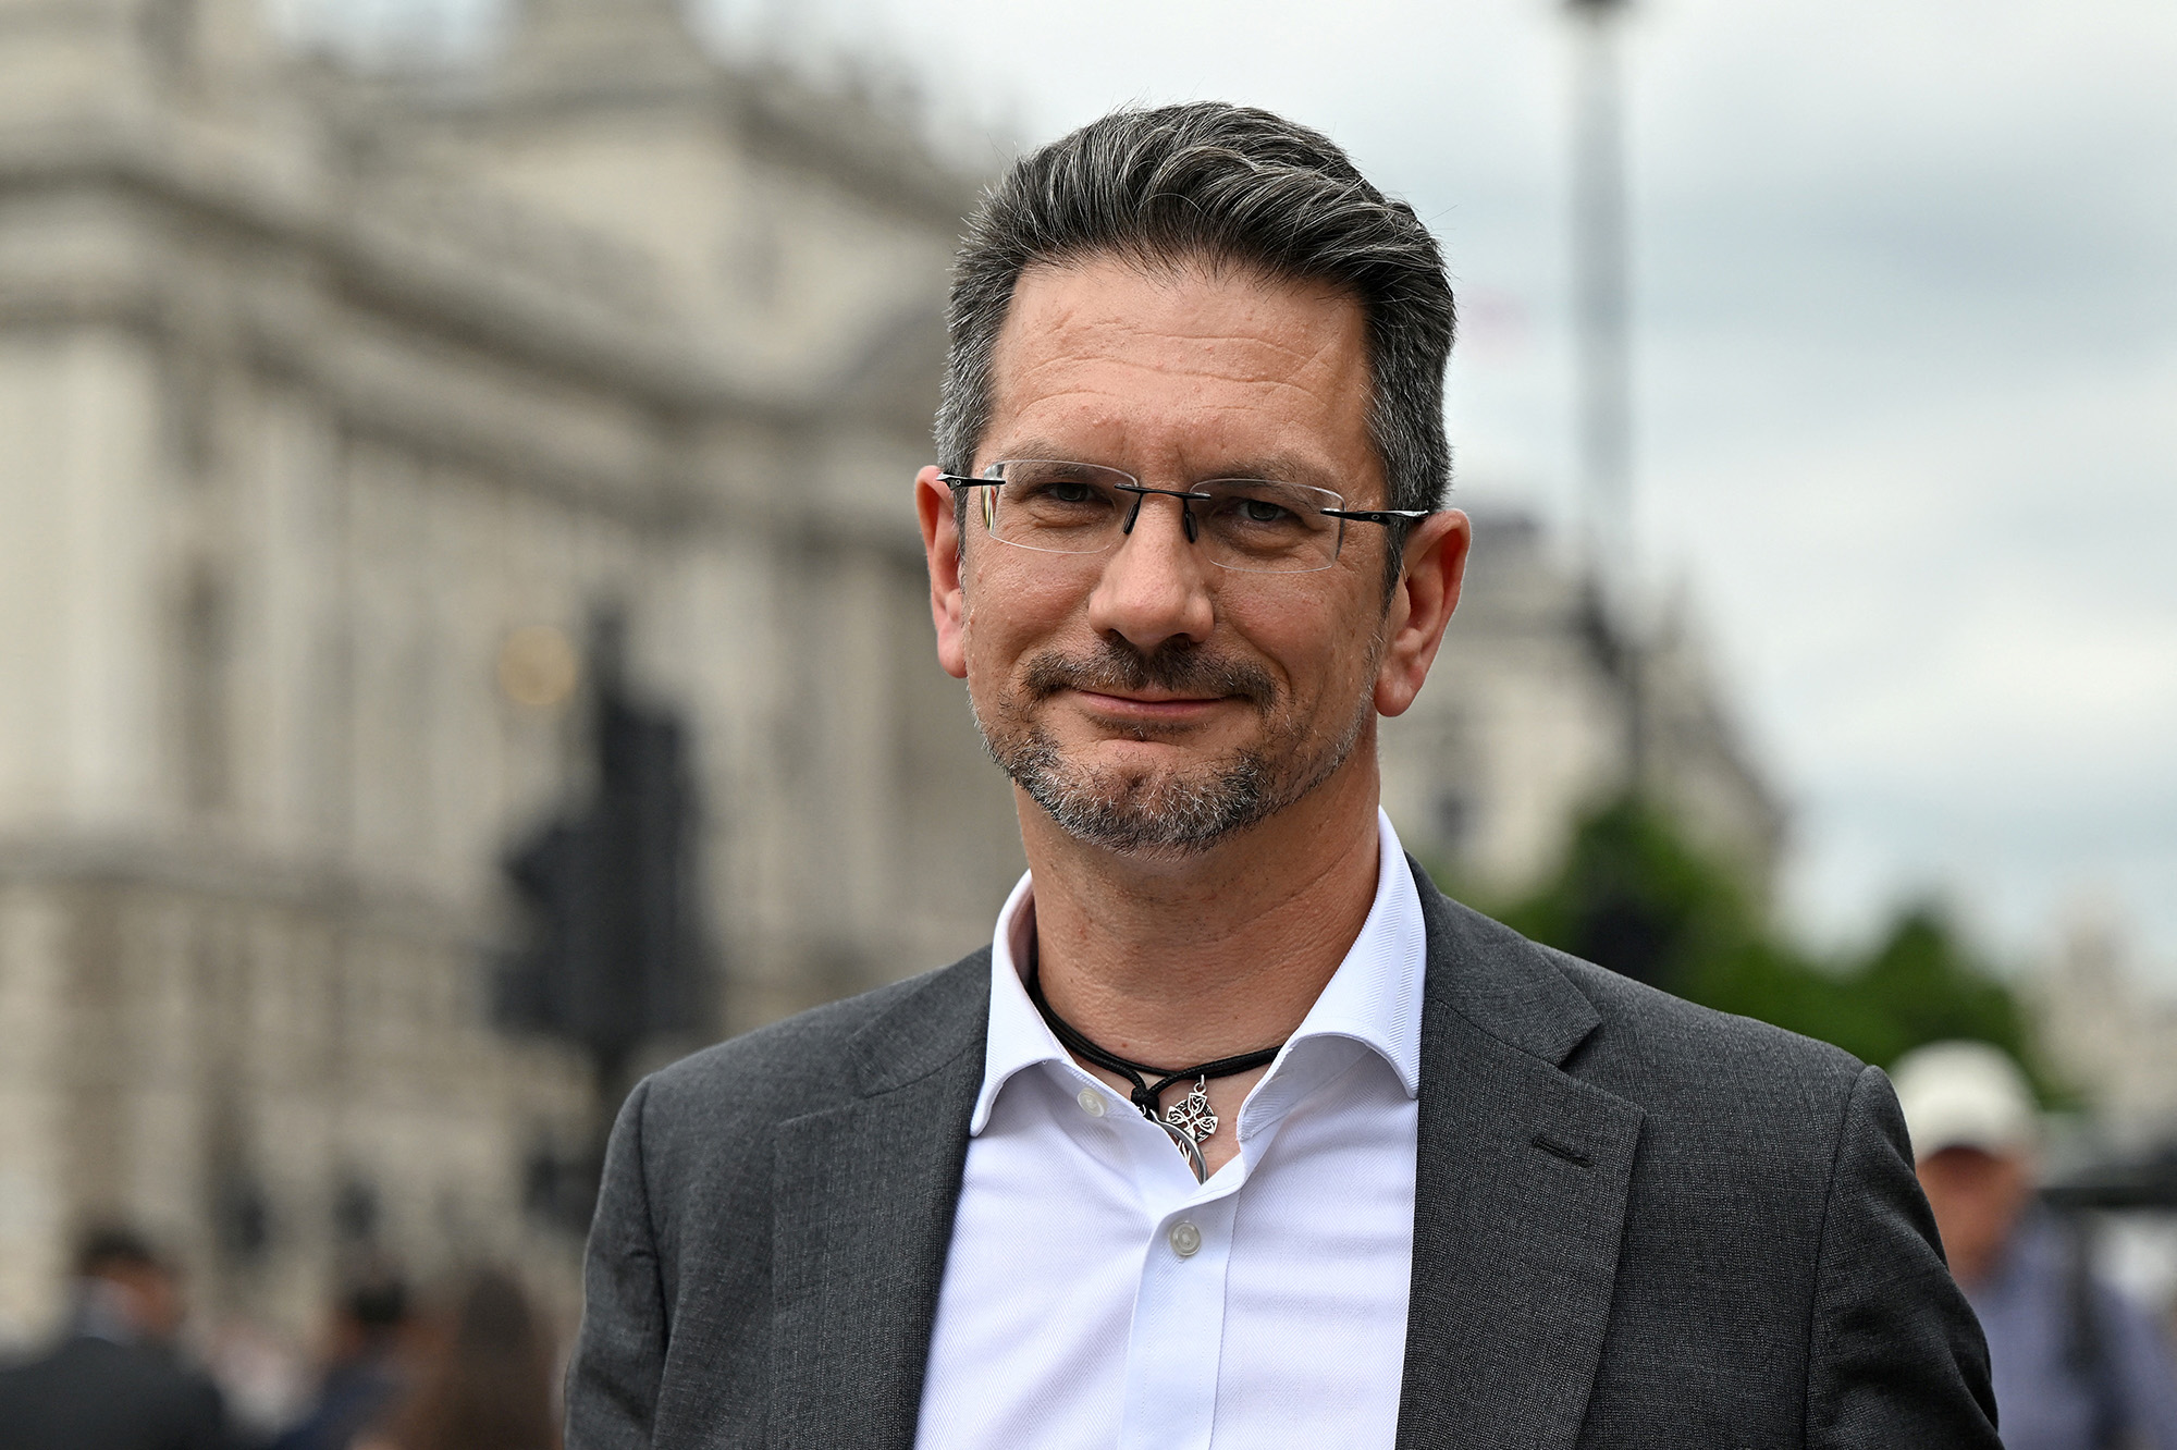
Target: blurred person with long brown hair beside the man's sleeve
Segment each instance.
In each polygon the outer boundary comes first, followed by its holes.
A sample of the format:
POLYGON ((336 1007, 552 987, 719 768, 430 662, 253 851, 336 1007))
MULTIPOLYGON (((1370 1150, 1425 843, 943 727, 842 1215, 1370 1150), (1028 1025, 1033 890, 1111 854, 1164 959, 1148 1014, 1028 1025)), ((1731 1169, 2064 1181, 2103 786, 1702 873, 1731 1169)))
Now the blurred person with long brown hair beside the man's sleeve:
POLYGON ((414 1389, 359 1450, 559 1450, 553 1339, 509 1274, 468 1280, 416 1359, 414 1389))

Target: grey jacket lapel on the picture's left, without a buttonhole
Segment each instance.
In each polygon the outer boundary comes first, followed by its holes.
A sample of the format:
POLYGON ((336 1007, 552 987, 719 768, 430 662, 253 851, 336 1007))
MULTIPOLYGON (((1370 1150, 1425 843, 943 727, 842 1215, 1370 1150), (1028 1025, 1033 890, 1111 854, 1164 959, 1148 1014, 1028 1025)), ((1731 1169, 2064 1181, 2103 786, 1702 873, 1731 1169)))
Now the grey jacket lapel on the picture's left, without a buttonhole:
POLYGON ((853 1102, 779 1126, 773 1158, 771 1443, 910 1450, 967 1126, 991 956, 856 1039, 853 1102))

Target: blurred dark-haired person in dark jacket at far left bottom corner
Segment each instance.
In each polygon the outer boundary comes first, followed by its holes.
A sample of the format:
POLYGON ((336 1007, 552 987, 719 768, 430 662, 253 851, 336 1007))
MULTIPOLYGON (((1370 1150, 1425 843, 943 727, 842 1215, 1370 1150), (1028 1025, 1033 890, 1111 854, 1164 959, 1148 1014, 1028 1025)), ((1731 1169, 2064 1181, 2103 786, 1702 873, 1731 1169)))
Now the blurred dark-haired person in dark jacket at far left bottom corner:
POLYGON ((181 1274, 144 1234, 89 1230, 61 1341, 0 1369, 0 1450, 229 1446, 218 1387, 174 1352, 185 1315, 181 1274))

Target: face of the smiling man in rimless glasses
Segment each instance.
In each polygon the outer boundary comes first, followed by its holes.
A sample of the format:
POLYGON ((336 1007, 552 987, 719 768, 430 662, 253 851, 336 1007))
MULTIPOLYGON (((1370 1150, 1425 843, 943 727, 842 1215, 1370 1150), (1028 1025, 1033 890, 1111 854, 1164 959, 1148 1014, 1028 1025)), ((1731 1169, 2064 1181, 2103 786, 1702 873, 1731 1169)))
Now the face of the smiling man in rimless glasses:
MULTIPOLYGON (((1269 477, 1385 505, 1365 318, 1343 294, 1250 270, 1036 268, 993 364, 977 470, 1069 459, 1149 488, 1269 477)), ((1369 738, 1385 549, 1385 529, 1352 523, 1330 568, 1228 570, 1189 542, 1180 501, 1152 494, 1110 551, 1036 553, 984 533, 971 501, 940 653, 991 753, 1069 834, 1200 851, 1369 738)))

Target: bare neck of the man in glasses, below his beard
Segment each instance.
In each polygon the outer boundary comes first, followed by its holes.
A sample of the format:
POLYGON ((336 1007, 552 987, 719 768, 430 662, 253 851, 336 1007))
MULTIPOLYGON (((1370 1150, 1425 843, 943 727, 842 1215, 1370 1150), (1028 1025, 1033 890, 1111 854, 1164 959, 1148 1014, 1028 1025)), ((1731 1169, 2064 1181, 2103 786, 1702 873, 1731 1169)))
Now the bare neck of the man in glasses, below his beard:
POLYGON ((1084 845, 1021 795, 1051 1008, 1139 1062, 1282 1043, 1367 921, 1376 795, 1363 745, 1276 816, 1208 851, 1160 858, 1084 845))

